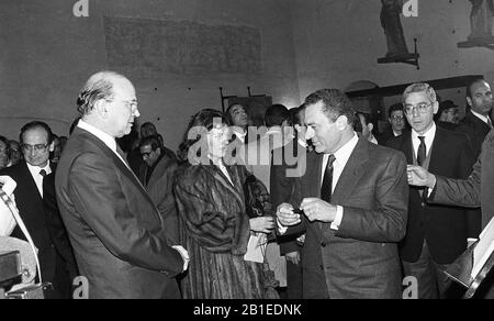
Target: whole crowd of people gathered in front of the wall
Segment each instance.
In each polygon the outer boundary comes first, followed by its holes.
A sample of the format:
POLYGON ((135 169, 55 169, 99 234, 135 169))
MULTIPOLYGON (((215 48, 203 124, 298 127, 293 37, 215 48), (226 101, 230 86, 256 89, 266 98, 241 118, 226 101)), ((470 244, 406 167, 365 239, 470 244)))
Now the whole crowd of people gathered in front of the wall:
MULTIPOLYGON (((88 298, 391 299, 407 276, 415 298, 457 298, 445 272, 493 213, 490 85, 465 102, 459 121, 413 84, 382 132, 338 89, 267 108, 262 129, 245 106, 203 109, 175 153, 153 123, 132 133, 133 84, 100 71, 68 139, 38 121, 0 136, 0 182, 16 182, 48 298, 78 276, 88 298)), ((24 239, 12 220, 0 233, 24 239)))

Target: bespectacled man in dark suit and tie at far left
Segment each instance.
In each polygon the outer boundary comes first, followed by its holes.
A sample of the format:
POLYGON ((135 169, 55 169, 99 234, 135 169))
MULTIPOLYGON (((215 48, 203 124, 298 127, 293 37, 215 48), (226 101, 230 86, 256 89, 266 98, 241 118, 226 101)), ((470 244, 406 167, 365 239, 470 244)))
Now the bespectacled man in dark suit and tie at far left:
MULTIPOLYGON (((68 270, 55 242, 55 234, 60 226, 50 220, 43 208, 43 184, 55 169, 49 162, 49 153, 54 148, 52 130, 46 123, 31 122, 21 129, 20 141, 24 160, 3 169, 1 175, 12 177, 18 184, 15 202, 38 248, 42 279, 54 287, 54 291, 47 292, 47 298, 70 298, 68 270)), ((19 226, 12 236, 25 240, 19 226)))

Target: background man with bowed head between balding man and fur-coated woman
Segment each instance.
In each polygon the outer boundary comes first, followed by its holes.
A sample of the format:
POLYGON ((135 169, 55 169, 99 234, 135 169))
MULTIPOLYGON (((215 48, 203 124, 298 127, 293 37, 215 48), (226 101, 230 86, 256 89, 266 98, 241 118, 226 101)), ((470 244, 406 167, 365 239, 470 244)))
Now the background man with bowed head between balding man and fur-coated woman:
POLYGON ((157 135, 143 139, 139 150, 144 160, 139 180, 158 208, 167 235, 175 241, 173 245, 179 244, 178 213, 172 191, 177 157, 165 150, 157 135))

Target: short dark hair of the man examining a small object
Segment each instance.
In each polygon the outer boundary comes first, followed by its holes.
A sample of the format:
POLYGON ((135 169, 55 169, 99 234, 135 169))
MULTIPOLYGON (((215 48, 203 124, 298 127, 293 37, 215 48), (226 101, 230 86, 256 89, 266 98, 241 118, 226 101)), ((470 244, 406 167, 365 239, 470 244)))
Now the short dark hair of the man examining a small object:
POLYGON ((348 124, 355 123, 355 110, 350 99, 339 89, 321 89, 305 98, 305 106, 323 102, 323 111, 330 121, 345 115, 348 124))

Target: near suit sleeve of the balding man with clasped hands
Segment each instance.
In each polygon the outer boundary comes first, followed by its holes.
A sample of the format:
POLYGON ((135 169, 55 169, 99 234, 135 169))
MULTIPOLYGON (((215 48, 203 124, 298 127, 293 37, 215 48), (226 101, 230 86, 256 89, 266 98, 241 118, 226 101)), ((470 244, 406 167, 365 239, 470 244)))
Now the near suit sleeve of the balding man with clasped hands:
POLYGON ((183 269, 180 254, 167 244, 160 225, 151 231, 137 220, 128 204, 133 198, 124 193, 113 166, 98 154, 83 154, 75 159, 68 193, 76 211, 120 259, 169 276, 178 275, 183 269))

